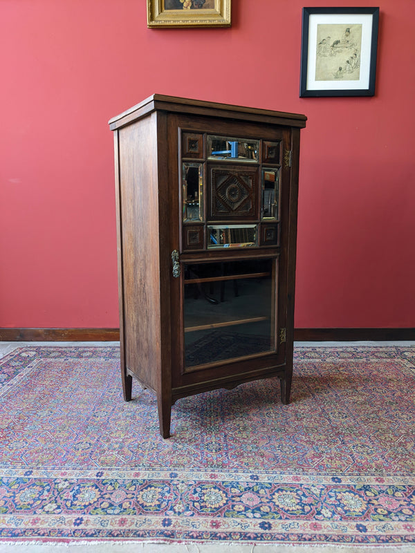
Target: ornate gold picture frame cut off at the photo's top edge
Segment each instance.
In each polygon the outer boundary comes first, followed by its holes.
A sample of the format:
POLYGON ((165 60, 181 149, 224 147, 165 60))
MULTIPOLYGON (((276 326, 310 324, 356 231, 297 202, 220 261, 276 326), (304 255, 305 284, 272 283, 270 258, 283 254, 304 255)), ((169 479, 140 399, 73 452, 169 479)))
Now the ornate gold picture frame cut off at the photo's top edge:
POLYGON ((229 27, 231 0, 147 0, 147 27, 229 27))

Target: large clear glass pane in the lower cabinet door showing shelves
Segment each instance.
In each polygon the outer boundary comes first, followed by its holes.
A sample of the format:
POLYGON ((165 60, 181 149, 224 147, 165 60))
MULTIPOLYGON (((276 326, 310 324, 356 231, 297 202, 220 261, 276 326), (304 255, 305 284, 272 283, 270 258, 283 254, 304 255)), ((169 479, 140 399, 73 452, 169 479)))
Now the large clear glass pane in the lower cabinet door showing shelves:
POLYGON ((277 259, 184 265, 185 370, 275 351, 277 259))

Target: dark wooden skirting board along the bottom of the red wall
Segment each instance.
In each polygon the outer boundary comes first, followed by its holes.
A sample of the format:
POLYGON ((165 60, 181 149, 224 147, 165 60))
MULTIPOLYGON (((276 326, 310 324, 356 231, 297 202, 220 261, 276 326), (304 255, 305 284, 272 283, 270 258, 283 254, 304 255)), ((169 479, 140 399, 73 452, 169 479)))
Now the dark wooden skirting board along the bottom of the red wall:
MULTIPOLYGON (((295 328, 295 341, 415 341, 415 328, 295 328)), ((0 328, 0 341, 119 341, 119 328, 0 328)))

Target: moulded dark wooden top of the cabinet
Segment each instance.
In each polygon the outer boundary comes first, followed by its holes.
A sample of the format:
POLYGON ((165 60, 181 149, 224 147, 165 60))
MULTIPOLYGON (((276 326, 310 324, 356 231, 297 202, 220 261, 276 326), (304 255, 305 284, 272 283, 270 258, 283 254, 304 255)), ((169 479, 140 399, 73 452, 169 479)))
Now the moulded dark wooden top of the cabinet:
POLYGON ((142 100, 136 106, 127 109, 109 120, 111 131, 129 124, 137 119, 148 115, 152 111, 165 111, 170 113, 184 113, 190 115, 208 115, 210 117, 257 120, 259 122, 268 122, 271 124, 285 124, 304 128, 306 126, 306 116, 297 113, 286 113, 283 111, 274 111, 270 109, 250 108, 245 106, 235 106, 233 104, 221 104, 219 102, 205 102, 204 100, 191 100, 176 96, 165 96, 162 94, 153 94, 142 100))

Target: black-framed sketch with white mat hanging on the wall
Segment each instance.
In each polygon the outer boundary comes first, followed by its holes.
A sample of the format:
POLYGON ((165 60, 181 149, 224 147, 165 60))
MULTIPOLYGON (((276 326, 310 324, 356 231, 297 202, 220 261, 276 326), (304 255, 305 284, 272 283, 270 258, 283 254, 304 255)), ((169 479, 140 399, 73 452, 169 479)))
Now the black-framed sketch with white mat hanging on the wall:
POLYGON ((373 96, 379 8, 303 8, 299 95, 373 96))

